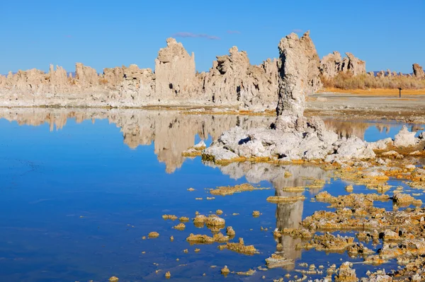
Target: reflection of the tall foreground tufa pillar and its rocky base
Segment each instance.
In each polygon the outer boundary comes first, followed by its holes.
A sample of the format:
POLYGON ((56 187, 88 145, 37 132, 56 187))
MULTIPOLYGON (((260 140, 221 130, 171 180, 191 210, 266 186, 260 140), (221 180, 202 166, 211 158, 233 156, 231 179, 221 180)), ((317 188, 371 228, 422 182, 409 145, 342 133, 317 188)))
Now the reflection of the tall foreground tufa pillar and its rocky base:
MULTIPOLYGON (((308 165, 272 165, 269 163, 230 163, 229 165, 215 165, 212 162, 204 162, 205 165, 220 168, 223 174, 229 175, 233 179, 246 177, 248 182, 258 183, 268 181, 276 189, 276 196, 300 196, 298 192, 283 192, 284 187, 302 187, 310 184, 312 179, 329 180, 327 172, 322 168, 308 165), (285 172, 290 172, 290 177, 285 177, 285 172)), ((319 189, 310 189, 310 193, 317 194, 319 189)), ((283 203, 276 205, 276 228, 299 228, 302 221, 302 211, 304 201, 295 203, 283 203)), ((295 245, 301 242, 300 238, 293 238, 283 235, 277 243, 282 244, 282 248, 277 248, 277 252, 284 252, 288 259, 300 259, 301 250, 295 249, 295 245)), ((285 266, 285 269, 293 269, 294 264, 285 266)))

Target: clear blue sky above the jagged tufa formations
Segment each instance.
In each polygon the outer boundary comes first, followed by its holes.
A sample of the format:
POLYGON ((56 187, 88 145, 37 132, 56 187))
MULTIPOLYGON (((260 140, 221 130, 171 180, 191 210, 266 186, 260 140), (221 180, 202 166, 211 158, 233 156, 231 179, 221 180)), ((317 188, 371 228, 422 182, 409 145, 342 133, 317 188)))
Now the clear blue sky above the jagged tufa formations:
POLYGON ((154 59, 172 35, 196 69, 208 71, 234 45, 251 64, 278 57, 281 37, 310 30, 320 57, 334 50, 366 61, 368 71, 411 72, 425 66, 425 1, 3 1, 0 74, 74 71, 75 62, 103 68, 154 59), (188 35, 194 37, 187 37, 188 35))

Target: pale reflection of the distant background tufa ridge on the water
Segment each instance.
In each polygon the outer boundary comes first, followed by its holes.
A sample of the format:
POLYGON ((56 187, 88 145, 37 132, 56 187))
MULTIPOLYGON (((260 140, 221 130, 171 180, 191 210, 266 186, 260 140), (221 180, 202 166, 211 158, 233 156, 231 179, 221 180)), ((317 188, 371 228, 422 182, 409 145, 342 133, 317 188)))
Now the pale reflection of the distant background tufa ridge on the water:
MULTIPOLYGON (((274 117, 242 116, 229 114, 181 114, 174 110, 106 110, 106 109, 42 109, 42 108, 0 108, 0 119, 16 121, 18 124, 39 126, 50 124, 50 131, 62 129, 67 119, 77 123, 84 120, 108 119, 120 127, 124 143, 130 148, 151 145, 159 162, 165 163, 166 172, 180 168, 184 158, 181 153, 195 144, 196 135, 200 139, 217 139, 223 131, 240 126, 244 129, 266 127, 274 122, 274 117)), ((352 135, 364 139, 365 131, 375 125, 380 132, 390 130, 395 124, 370 122, 341 122, 325 119, 329 129, 341 137, 352 135)))

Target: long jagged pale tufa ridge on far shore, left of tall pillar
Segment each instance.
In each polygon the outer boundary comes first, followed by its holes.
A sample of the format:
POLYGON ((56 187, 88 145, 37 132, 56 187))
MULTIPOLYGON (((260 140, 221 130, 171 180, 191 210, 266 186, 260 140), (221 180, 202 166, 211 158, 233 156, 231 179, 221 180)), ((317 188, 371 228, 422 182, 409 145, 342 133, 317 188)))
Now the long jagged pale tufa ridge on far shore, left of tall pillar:
POLYGON ((75 76, 50 65, 0 76, 3 106, 225 105, 251 110, 276 107, 278 60, 251 65, 237 47, 217 57, 209 72, 197 73, 195 55, 174 38, 158 52, 155 69, 128 67, 95 69, 76 64, 75 76))

